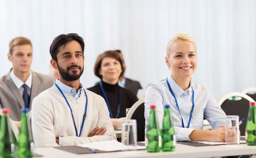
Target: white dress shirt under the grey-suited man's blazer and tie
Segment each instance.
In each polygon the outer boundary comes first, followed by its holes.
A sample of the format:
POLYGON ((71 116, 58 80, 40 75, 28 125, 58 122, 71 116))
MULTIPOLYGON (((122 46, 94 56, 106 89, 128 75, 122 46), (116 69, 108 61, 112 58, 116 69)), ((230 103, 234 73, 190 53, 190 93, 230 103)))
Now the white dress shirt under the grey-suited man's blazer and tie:
MULTIPOLYGON (((23 95, 23 91, 24 91, 24 88, 23 88, 23 84, 24 82, 22 80, 20 80, 20 78, 18 78, 13 71, 11 71, 11 74, 10 74, 14 84, 17 86, 17 88, 19 89, 20 91, 20 95, 22 96, 23 95)), ((30 96, 30 90, 31 90, 31 86, 32 86, 32 72, 31 70, 29 70, 29 77, 27 78, 27 80, 25 81, 25 84, 27 86, 27 90, 28 90, 28 95, 30 96)))

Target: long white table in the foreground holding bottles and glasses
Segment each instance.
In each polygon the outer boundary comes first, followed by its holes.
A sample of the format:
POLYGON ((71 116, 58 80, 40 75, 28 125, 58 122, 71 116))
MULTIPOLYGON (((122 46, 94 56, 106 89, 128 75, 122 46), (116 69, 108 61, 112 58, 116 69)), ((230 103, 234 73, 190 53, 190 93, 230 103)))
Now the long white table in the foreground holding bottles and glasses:
POLYGON ((221 146, 192 147, 177 144, 174 152, 149 153, 146 150, 137 150, 82 155, 76 155, 49 147, 36 148, 35 153, 43 155, 44 158, 205 158, 232 155, 252 155, 256 154, 256 146, 247 146, 246 144, 241 144, 236 148, 226 148, 221 146))

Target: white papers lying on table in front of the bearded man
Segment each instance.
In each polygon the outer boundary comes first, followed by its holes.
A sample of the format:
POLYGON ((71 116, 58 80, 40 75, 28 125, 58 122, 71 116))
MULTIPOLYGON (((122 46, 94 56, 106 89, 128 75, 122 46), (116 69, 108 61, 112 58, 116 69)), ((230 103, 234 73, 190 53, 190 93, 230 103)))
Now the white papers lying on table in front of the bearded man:
POLYGON ((94 143, 81 144, 81 145, 77 145, 77 146, 84 147, 84 148, 91 148, 91 149, 95 149, 95 150, 101 150, 101 151, 105 151, 105 152, 146 149, 145 146, 137 146, 137 147, 127 146, 127 145, 124 145, 116 140, 99 141, 99 142, 94 142, 94 143))

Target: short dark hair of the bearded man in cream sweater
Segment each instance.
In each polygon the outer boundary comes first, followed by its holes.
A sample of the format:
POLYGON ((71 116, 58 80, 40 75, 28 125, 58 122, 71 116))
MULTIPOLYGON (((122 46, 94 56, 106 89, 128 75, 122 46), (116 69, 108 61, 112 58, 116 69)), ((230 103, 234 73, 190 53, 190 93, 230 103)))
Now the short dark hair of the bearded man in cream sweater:
POLYGON ((84 55, 84 40, 82 37, 75 33, 61 34, 54 38, 50 46, 50 54, 52 56, 52 59, 58 63, 57 54, 59 52, 59 49, 62 46, 66 46, 66 44, 72 40, 76 40, 78 43, 80 43, 84 55))

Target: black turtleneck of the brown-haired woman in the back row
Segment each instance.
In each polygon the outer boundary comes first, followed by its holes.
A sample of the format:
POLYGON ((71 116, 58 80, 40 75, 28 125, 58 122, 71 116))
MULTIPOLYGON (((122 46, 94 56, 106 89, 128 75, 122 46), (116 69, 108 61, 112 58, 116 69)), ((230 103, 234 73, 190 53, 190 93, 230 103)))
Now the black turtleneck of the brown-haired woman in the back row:
MULTIPOLYGON (((108 102, 109 102, 109 106, 111 108, 111 112, 113 115, 113 118, 116 118, 116 114, 117 114, 117 106, 119 103, 119 95, 118 95, 118 91, 119 91, 119 86, 118 83, 116 84, 108 84, 105 83, 104 81, 102 81, 102 87, 108 97, 108 102)), ((92 91, 94 93, 96 93, 97 95, 102 96, 102 98, 105 99, 103 92, 99 86, 99 84, 88 88, 89 91, 92 91)), ((120 92, 121 92, 121 105, 120 105, 120 113, 119 113, 119 117, 118 118, 122 118, 125 117, 125 109, 126 108, 131 108, 131 106, 136 103, 136 101, 138 101, 138 98, 136 95, 134 95, 133 92, 131 92, 128 89, 124 89, 122 87, 120 87, 120 92)), ((105 99, 106 101, 106 99, 105 99)))

